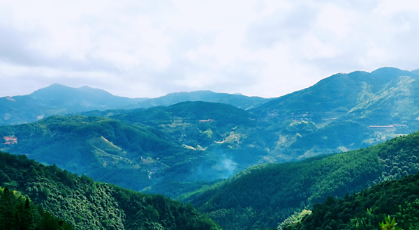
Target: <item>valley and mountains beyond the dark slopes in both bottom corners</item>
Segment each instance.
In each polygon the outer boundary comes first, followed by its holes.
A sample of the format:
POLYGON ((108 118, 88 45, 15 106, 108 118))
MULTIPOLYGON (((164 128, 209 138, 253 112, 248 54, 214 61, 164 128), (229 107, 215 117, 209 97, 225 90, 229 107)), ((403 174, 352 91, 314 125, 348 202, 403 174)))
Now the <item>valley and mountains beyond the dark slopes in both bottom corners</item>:
MULTIPOLYGON (((270 99, 52 85, 0 98, 0 151, 190 202, 226 230, 272 229, 328 197, 419 171, 418 79, 356 71, 270 99)), ((1 186, 19 187, 10 181, 1 186)))

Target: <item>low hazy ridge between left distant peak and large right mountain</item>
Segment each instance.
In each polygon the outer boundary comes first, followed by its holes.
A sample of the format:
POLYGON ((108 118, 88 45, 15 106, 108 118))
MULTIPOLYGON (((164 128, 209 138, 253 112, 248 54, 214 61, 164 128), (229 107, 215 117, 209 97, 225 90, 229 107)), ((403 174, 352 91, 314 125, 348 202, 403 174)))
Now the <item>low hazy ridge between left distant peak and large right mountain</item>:
POLYGON ((248 97, 241 93, 229 94, 229 93, 214 93, 212 91, 193 91, 193 92, 180 92, 180 93, 169 93, 159 98, 152 98, 142 102, 138 102, 133 105, 123 107, 123 109, 135 109, 135 108, 149 108, 156 106, 169 106, 175 105, 179 102, 186 101, 204 101, 204 102, 218 102, 227 105, 233 105, 240 109, 251 109, 258 107, 265 102, 272 99, 260 98, 260 97, 248 97))

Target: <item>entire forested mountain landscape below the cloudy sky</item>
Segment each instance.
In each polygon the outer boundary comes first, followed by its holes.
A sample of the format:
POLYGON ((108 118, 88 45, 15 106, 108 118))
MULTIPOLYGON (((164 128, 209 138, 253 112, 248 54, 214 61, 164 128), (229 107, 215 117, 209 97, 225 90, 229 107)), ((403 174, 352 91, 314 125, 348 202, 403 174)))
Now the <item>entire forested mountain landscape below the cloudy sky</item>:
POLYGON ((417 77, 356 71, 269 100, 0 98, 0 137, 17 137, 0 145, 0 229, 418 229, 417 77))

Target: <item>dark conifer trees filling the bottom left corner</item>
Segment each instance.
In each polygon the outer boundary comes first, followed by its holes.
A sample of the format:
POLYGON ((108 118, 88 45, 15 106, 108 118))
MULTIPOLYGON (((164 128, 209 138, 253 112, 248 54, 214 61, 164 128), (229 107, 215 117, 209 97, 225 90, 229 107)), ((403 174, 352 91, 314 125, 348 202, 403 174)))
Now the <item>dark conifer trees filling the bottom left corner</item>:
POLYGON ((72 230, 70 224, 45 212, 20 192, 0 187, 0 229, 72 230))

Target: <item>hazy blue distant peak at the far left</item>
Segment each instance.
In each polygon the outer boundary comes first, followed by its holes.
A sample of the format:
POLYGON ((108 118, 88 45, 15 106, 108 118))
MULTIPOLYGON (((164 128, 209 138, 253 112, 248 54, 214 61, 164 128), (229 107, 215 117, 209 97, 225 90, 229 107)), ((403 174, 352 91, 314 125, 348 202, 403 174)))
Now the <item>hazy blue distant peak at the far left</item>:
POLYGON ((0 125, 29 123, 57 114, 114 109, 147 99, 119 97, 89 86, 52 84, 29 95, 0 98, 0 125))

